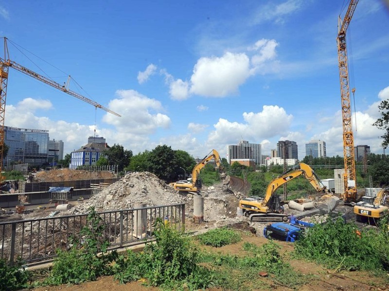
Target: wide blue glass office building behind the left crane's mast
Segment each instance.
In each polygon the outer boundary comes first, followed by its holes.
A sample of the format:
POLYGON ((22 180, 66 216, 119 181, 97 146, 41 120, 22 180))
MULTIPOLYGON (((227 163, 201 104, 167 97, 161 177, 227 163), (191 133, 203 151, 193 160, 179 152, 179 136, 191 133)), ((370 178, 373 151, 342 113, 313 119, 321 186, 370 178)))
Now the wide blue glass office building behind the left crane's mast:
POLYGON ((9 147, 6 162, 42 165, 48 161, 49 130, 4 127, 4 143, 9 147))

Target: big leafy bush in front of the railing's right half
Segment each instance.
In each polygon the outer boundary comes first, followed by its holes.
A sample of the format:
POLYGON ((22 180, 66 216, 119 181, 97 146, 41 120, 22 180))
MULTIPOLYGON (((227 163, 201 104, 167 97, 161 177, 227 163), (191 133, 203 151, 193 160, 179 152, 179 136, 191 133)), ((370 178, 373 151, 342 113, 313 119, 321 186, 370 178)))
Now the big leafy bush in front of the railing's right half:
POLYGON ((141 253, 127 252, 114 266, 115 279, 121 283, 145 278, 147 284, 169 290, 182 286, 189 290, 206 288, 212 272, 200 265, 197 248, 190 238, 176 229, 157 222, 156 242, 149 243, 141 253))

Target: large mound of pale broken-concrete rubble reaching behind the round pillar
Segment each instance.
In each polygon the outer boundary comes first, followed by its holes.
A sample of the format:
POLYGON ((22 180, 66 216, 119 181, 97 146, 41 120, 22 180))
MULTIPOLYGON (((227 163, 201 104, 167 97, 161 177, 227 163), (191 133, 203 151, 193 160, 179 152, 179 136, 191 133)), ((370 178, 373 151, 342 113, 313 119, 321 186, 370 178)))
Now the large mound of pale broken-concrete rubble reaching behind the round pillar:
MULTIPOLYGON (((225 184, 219 183, 201 189, 204 197, 204 220, 220 221, 236 217, 239 199, 225 184)), ((193 214, 193 195, 178 192, 157 176, 149 172, 134 172, 125 175, 99 194, 93 195, 83 204, 62 211, 60 215, 87 213, 93 206, 97 211, 134 208, 135 203, 144 203, 147 207, 185 203, 185 212, 193 214)))

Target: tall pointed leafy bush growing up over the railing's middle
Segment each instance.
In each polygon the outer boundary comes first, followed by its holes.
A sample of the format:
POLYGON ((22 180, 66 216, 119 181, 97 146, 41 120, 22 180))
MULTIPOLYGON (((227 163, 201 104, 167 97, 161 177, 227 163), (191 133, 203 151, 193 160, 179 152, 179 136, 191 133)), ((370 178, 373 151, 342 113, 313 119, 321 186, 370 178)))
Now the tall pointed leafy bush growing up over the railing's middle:
POLYGON ((109 242, 103 239, 102 218, 90 208, 87 226, 81 230, 83 242, 74 240, 69 251, 57 250, 53 269, 44 284, 79 284, 94 281, 101 275, 112 275, 111 262, 117 258, 116 252, 106 254, 109 242), (100 256, 99 253, 102 253, 100 256))

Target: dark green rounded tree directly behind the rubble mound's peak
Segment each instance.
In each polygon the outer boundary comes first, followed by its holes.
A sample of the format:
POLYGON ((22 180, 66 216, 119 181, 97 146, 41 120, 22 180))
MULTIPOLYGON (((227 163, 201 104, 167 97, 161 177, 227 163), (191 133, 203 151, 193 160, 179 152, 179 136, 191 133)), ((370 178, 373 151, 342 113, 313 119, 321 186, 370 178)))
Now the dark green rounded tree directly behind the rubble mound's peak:
POLYGON ((147 162, 151 172, 161 180, 173 181, 176 178, 175 151, 171 146, 157 146, 150 152, 147 162))

